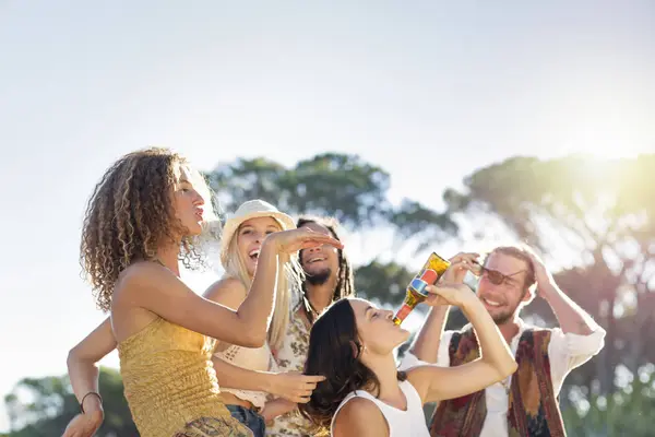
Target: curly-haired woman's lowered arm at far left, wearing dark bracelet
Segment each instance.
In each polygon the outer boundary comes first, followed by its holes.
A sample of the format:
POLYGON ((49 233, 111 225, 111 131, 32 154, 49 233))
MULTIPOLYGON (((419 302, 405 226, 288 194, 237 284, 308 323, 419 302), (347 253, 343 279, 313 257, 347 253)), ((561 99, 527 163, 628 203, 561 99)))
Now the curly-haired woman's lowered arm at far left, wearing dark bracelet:
POLYGON ((92 436, 103 424, 98 362, 115 349, 116 339, 111 331, 111 319, 107 318, 69 352, 67 359, 69 378, 84 413, 73 417, 63 437, 92 436))

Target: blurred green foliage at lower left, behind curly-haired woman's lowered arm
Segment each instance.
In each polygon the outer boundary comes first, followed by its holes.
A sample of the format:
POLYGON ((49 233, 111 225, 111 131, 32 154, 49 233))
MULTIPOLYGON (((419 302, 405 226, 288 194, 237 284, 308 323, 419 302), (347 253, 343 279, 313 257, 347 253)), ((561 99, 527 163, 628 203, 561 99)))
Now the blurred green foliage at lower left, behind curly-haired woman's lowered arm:
MULTIPOLYGON (((99 390, 105 421, 97 436, 139 436, 123 397, 120 374, 115 369, 102 368, 99 390)), ((22 379, 4 397, 4 403, 13 429, 8 437, 59 436, 80 412, 68 376, 22 379)))

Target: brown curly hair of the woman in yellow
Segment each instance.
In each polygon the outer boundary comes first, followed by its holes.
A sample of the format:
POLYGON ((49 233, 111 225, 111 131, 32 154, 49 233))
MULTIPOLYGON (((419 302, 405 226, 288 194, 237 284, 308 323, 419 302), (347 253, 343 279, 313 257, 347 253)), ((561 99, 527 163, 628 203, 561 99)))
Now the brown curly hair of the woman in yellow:
POLYGON ((96 185, 84 215, 80 262, 100 309, 109 310, 119 274, 134 261, 155 259, 160 245, 181 244, 187 267, 201 261, 191 238, 181 237, 187 231, 174 211, 175 184, 187 164, 167 149, 142 150, 119 158, 96 185))

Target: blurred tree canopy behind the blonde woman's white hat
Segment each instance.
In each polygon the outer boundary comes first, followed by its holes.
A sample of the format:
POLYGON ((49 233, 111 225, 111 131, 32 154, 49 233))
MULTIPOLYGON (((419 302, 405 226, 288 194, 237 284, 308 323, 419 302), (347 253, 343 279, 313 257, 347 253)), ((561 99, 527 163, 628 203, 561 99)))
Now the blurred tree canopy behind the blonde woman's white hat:
POLYGON ((258 157, 239 158, 206 175, 227 211, 263 199, 281 211, 333 215, 358 228, 389 217, 389 174, 356 155, 324 153, 286 168, 258 157))

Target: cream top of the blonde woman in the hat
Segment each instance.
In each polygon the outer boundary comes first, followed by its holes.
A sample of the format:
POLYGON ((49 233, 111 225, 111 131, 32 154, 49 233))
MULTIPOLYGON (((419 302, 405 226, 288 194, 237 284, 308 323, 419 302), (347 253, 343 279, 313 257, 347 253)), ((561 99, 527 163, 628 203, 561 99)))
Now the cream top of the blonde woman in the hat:
MULTIPOLYGON (((214 356, 248 370, 275 371, 273 366, 275 362, 267 342, 261 347, 241 347, 233 344, 225 351, 216 352, 214 356)), ((226 387, 222 390, 252 403, 258 409, 263 409, 266 403, 266 393, 263 391, 239 390, 226 387)))

